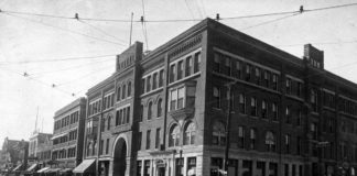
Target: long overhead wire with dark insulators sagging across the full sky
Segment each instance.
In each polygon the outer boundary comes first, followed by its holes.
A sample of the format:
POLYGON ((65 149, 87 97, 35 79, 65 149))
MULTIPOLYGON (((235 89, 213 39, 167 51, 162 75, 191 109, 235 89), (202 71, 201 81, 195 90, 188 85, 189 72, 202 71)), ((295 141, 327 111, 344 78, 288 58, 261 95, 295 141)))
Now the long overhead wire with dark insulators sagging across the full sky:
MULTIPOLYGON (((324 8, 315 8, 315 9, 306 9, 304 12, 314 12, 314 11, 322 11, 322 10, 332 10, 332 9, 339 9, 339 8, 347 8, 354 7, 357 3, 346 3, 346 4, 338 4, 338 6, 331 6, 324 8)), ((41 14, 41 13, 30 13, 30 12, 18 12, 18 11, 8 11, 1 10, 3 13, 13 13, 13 14, 25 14, 25 15, 36 15, 43 18, 56 18, 56 19, 67 19, 67 20, 75 20, 72 16, 63 16, 63 15, 53 15, 53 14, 41 14)), ((250 15, 238 15, 238 16, 228 16, 228 18, 220 18, 220 20, 238 20, 238 19, 249 19, 249 18, 260 18, 260 16, 271 16, 271 15, 283 15, 283 14, 293 14, 300 12, 299 10, 294 11, 283 11, 283 12, 272 12, 272 13, 261 13, 261 14, 250 14, 250 15)), ((96 18, 80 18, 82 20, 86 21, 104 21, 104 22, 128 22, 130 20, 120 20, 120 19, 96 19, 96 18)), ((203 19, 166 19, 166 20, 145 20, 145 22, 187 22, 187 21, 202 21, 203 19)), ((133 22, 141 22, 141 20, 137 20, 133 22)))

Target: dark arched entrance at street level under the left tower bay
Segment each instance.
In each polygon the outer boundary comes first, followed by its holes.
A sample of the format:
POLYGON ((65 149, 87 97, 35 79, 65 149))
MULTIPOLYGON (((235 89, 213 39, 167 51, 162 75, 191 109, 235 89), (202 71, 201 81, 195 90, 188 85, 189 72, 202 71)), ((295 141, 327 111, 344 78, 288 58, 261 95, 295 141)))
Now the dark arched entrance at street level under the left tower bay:
POLYGON ((115 145, 112 175, 125 176, 127 169, 127 143, 120 138, 115 145))

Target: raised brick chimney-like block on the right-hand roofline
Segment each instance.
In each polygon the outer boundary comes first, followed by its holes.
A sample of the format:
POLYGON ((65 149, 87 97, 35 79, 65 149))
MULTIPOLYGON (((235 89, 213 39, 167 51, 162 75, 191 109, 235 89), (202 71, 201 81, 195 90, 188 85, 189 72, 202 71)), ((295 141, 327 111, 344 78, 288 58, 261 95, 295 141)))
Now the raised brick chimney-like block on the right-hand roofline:
POLYGON ((312 44, 305 44, 304 61, 311 67, 324 69, 324 51, 317 50, 312 44))

